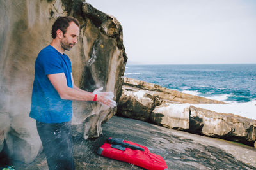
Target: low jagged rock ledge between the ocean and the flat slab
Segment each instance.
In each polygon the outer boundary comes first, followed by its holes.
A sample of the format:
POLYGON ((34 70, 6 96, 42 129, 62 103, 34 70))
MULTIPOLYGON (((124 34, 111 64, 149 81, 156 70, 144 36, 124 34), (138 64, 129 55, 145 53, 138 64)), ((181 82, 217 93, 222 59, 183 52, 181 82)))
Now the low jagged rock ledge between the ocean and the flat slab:
POLYGON ((118 115, 255 146, 255 120, 193 106, 198 103, 224 104, 221 101, 182 94, 152 83, 124 78, 118 115))

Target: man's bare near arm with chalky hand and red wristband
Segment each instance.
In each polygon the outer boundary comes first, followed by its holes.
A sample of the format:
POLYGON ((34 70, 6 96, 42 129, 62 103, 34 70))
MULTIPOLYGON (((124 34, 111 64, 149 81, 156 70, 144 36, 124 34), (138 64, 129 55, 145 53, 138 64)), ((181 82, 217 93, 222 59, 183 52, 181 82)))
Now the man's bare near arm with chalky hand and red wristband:
MULTIPOLYGON (((93 98, 95 95, 92 94, 91 92, 86 92, 82 89, 79 89, 78 87, 75 87, 75 88, 68 87, 66 76, 64 73, 49 74, 47 76, 51 81, 52 85, 54 86, 54 88, 57 90, 61 99, 76 100, 76 101, 93 101, 93 98), (76 88, 78 88, 79 90, 77 90, 76 88)), ((107 106, 113 106, 113 102, 115 101, 113 101, 112 99, 109 99, 106 96, 108 96, 108 92, 105 92, 105 93, 102 92, 98 94, 97 101, 107 106)))

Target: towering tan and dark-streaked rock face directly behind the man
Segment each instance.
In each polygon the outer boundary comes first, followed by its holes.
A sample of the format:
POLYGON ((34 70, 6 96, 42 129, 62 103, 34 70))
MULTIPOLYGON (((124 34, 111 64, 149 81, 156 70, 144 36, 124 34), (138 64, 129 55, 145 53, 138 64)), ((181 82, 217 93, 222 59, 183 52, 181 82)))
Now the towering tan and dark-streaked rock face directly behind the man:
MULTIPOLYGON (((81 24, 77 45, 67 52, 76 85, 90 92, 104 87, 116 101, 120 97, 127 57, 115 17, 82 0, 0 0, 0 149, 6 148, 12 159, 31 162, 42 150, 35 120, 29 118, 34 64, 51 43, 53 22, 67 15, 81 24)), ((116 113, 116 108, 90 102, 76 102, 73 108, 72 123, 84 138, 99 136, 102 122, 116 113)))

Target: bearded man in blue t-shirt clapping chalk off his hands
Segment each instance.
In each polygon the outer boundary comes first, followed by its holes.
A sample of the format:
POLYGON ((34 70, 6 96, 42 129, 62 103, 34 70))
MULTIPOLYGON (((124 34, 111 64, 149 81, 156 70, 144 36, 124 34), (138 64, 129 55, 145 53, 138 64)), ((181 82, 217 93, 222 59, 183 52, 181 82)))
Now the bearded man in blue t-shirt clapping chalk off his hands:
POLYGON ((30 117, 36 127, 49 169, 74 169, 71 118, 72 100, 97 101, 114 107, 113 92, 93 94, 74 85, 71 62, 65 50, 77 43, 79 22, 59 17, 52 25, 52 42, 35 62, 30 117))

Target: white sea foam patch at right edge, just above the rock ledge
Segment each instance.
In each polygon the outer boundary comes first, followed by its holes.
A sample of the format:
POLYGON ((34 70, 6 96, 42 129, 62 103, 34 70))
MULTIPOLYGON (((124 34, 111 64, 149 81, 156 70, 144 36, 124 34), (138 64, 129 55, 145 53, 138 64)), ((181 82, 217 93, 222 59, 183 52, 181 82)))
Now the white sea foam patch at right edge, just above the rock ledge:
POLYGON ((193 106, 216 111, 218 113, 233 113, 241 117, 256 120, 256 101, 246 103, 232 102, 228 104, 193 104, 193 106))

